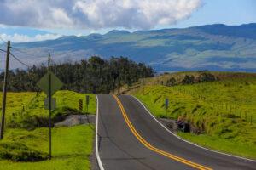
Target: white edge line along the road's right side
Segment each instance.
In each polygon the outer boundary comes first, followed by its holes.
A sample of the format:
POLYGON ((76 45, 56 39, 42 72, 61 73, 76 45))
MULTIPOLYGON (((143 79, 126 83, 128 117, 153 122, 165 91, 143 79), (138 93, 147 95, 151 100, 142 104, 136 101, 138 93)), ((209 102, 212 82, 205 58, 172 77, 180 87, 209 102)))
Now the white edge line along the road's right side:
MULTIPOLYGON (((132 96, 132 95, 129 95, 129 96, 131 96, 131 97, 134 98, 134 99, 137 99, 135 96, 132 96)), ((141 105, 143 105, 143 102, 141 102, 139 99, 137 99, 137 101, 138 101, 141 105)), ((172 131, 170 131, 170 130, 169 130, 165 125, 163 125, 161 122, 159 122, 159 121, 152 115, 152 113, 151 113, 150 111, 148 111, 148 108, 147 108, 145 105, 143 105, 143 107, 144 107, 144 109, 148 112, 148 114, 153 117, 154 121, 158 122, 161 127, 163 127, 164 129, 166 129, 166 131, 167 131, 168 133, 171 133, 171 134, 172 134, 173 136, 175 136, 177 139, 183 140, 183 142, 186 142, 186 143, 195 145, 196 147, 199 147, 199 148, 201 148, 201 149, 203 149, 203 150, 208 150, 208 151, 212 151, 212 152, 214 152, 214 153, 222 154, 222 155, 224 155, 224 156, 232 156, 232 157, 236 157, 236 158, 239 158, 239 159, 242 159, 242 160, 256 162, 256 160, 248 159, 248 158, 245 158, 245 157, 234 156, 234 155, 226 154, 226 153, 223 153, 223 152, 219 152, 219 151, 217 151, 217 150, 210 150, 210 149, 207 149, 207 148, 202 147, 202 146, 200 146, 200 145, 197 145, 197 144, 194 144, 194 143, 192 143, 192 142, 189 142, 188 140, 182 139, 181 137, 177 136, 177 134, 172 133, 172 131)))

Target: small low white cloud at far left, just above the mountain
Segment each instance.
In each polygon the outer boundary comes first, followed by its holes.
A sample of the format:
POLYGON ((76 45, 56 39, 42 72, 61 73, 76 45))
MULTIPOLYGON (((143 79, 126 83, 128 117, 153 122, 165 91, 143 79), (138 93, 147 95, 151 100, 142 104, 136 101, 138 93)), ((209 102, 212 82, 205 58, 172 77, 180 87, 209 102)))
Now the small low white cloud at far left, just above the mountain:
POLYGON ((0 34, 0 37, 2 37, 3 40, 5 40, 5 41, 12 40, 12 42, 38 42, 38 41, 56 39, 56 38, 61 37, 61 35, 38 34, 34 37, 29 37, 27 35, 21 35, 21 34, 14 34, 14 35, 0 34))

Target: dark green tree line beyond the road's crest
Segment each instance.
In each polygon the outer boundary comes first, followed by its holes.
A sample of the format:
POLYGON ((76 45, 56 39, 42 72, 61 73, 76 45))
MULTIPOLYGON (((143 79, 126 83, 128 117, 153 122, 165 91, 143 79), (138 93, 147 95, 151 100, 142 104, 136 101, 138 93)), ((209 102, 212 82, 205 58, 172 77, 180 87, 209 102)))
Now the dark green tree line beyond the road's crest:
MULTIPOLYGON (((28 70, 9 71, 8 90, 12 92, 40 91, 37 82, 47 72, 46 65, 33 65, 28 70)), ((93 56, 80 62, 50 65, 50 71, 64 83, 63 88, 81 93, 109 94, 116 88, 139 78, 153 77, 154 70, 125 57, 101 59, 93 56)), ((3 90, 3 75, 0 74, 0 89, 3 90)))

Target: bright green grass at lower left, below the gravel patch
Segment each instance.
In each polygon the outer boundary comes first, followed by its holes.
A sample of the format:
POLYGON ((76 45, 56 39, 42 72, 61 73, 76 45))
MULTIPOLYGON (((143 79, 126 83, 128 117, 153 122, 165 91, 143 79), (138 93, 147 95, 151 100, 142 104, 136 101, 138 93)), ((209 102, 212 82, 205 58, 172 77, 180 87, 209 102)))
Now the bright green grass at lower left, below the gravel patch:
MULTIPOLYGON (((0 142, 19 141, 30 148, 48 153, 49 128, 37 128, 34 131, 9 129, 5 139, 0 142)), ((0 161, 3 170, 34 169, 90 169, 93 133, 89 126, 58 127, 52 131, 52 160, 38 162, 0 161)))

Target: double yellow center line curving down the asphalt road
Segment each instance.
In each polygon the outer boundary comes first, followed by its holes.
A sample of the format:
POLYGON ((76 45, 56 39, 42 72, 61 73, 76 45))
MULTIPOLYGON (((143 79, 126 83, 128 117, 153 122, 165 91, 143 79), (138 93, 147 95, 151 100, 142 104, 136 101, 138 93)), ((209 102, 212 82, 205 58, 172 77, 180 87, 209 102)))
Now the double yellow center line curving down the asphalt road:
POLYGON ((122 112, 122 115, 124 116, 125 122, 126 122, 126 124, 128 125, 128 127, 131 129, 131 133, 133 133, 134 136, 135 136, 145 147, 147 147, 149 150, 153 150, 154 152, 156 152, 156 153, 158 153, 158 154, 160 154, 160 155, 162 155, 162 156, 166 156, 166 157, 168 157, 168 158, 170 158, 170 159, 172 159, 172 160, 182 162, 182 163, 184 163, 184 164, 186 164, 186 165, 189 165, 190 167, 195 167, 196 169, 212 170, 212 168, 204 167, 204 166, 202 166, 202 165, 200 165, 200 164, 197 164, 197 163, 194 163, 194 162, 192 162, 192 161, 188 161, 188 160, 185 160, 185 159, 183 159, 183 158, 181 158, 181 157, 174 156, 174 155, 172 155, 172 154, 170 154, 170 153, 168 153, 168 152, 166 152, 166 151, 164 151, 164 150, 160 150, 160 149, 154 147, 153 145, 148 144, 148 142, 147 142, 145 139, 143 139, 143 137, 142 137, 139 133, 137 133, 137 130, 136 130, 135 127, 133 127, 133 125, 131 124, 131 121, 129 120, 129 118, 128 118, 126 112, 125 112, 124 106, 123 106, 122 103, 120 102, 119 98, 118 98, 116 95, 113 95, 113 98, 116 99, 116 101, 117 101, 117 103, 118 103, 118 105, 119 105, 119 108, 120 108, 120 110, 121 110, 121 112, 122 112))

